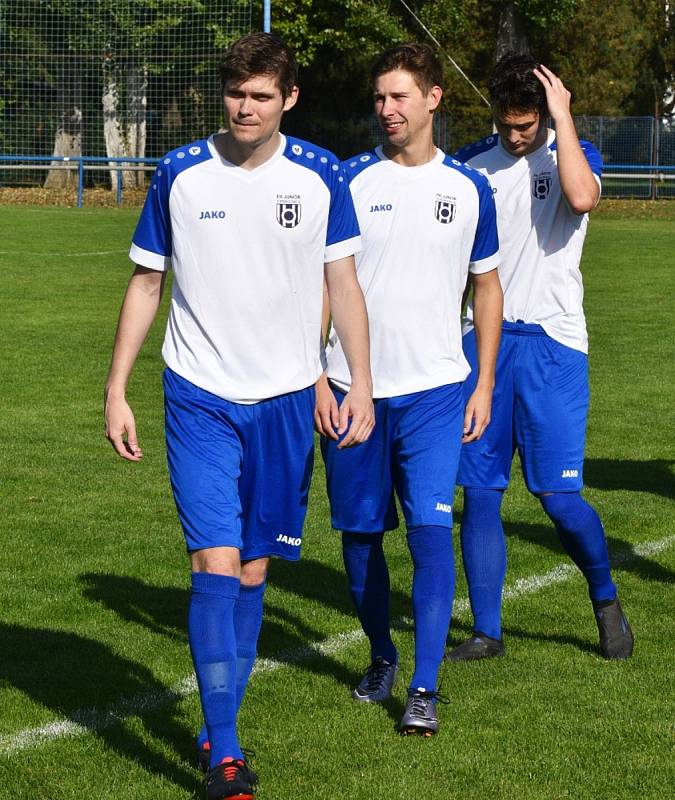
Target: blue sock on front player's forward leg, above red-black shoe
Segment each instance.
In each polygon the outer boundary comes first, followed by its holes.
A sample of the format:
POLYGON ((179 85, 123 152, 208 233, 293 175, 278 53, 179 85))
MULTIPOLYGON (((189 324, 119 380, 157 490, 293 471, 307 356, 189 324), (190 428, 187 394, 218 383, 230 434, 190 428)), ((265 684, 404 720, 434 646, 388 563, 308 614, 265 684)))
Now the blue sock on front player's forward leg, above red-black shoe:
POLYGON ((237 740, 234 604, 239 578, 192 573, 188 639, 211 747, 211 766, 243 758, 237 740))

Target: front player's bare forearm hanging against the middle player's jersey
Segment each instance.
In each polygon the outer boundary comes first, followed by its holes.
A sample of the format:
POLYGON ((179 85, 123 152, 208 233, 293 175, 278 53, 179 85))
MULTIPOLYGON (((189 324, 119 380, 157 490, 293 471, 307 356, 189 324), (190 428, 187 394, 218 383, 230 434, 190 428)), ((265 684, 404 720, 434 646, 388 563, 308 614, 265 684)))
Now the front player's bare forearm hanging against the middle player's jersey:
POLYGON ((327 265, 326 285, 331 319, 349 365, 352 387, 361 385, 372 392, 368 314, 353 259, 327 265))

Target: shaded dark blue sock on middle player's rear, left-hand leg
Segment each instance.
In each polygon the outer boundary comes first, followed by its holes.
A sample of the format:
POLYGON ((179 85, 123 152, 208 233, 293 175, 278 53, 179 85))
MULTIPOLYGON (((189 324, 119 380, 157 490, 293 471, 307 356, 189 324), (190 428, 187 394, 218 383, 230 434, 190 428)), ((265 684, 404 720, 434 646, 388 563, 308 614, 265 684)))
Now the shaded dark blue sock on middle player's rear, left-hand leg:
POLYGON ((396 647, 389 629, 389 570, 382 533, 342 534, 342 556, 356 614, 370 642, 371 658, 395 664, 396 647))

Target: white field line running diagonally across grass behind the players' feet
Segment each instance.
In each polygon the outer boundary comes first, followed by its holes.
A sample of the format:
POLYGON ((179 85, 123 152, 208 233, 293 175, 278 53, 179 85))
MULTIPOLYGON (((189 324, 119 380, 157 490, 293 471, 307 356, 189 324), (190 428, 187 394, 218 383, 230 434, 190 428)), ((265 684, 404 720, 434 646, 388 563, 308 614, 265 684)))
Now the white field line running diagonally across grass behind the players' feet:
MULTIPOLYGON (((675 544, 675 536, 666 536, 656 542, 645 542, 636 545, 627 552, 619 553, 612 558, 612 564, 621 566, 635 558, 645 558, 663 552, 675 544)), ((528 578, 519 578, 504 590, 505 600, 515 600, 524 595, 534 594, 556 583, 563 583, 575 576, 580 576, 579 570, 570 563, 559 564, 552 570, 542 575, 531 575, 528 578)), ((462 598, 455 601, 453 613, 455 616, 469 611, 469 601, 462 598)), ((399 619, 395 627, 407 627, 410 620, 399 619)), ((295 650, 289 650, 277 655, 276 658, 259 658, 253 667, 253 675, 275 672, 282 667, 298 664, 317 655, 333 656, 364 638, 362 630, 352 630, 339 633, 323 642, 310 643, 295 650)), ((0 756, 12 756, 25 749, 35 749, 47 744, 54 739, 66 736, 84 736, 87 733, 96 733, 110 728, 127 717, 138 716, 143 711, 151 711, 168 702, 180 700, 197 691, 197 681, 194 675, 183 678, 172 689, 145 692, 134 697, 122 699, 106 709, 88 708, 73 712, 68 719, 55 720, 48 725, 38 728, 27 728, 17 733, 0 736, 0 756)))

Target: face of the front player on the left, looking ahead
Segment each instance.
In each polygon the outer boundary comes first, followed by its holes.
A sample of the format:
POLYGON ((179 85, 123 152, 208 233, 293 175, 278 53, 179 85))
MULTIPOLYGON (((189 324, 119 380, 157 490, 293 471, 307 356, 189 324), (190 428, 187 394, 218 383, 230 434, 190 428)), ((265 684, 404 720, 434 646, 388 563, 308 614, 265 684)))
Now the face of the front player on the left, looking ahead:
POLYGON ((253 75, 243 83, 228 82, 223 92, 225 123, 240 146, 255 150, 279 131, 284 111, 298 99, 298 88, 284 99, 274 75, 253 75))

